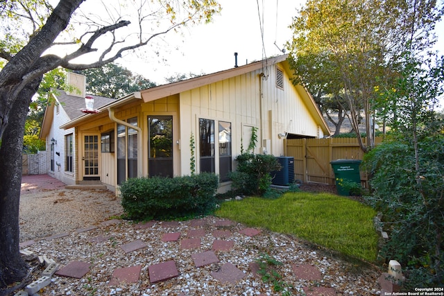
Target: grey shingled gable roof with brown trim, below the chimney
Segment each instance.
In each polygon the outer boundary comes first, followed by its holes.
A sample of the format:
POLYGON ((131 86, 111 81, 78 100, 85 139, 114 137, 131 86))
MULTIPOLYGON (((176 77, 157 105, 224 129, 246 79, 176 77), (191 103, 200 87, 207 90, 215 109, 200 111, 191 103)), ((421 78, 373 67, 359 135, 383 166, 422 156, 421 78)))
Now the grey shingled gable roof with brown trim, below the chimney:
MULTIPOLYGON (((51 129, 53 122, 54 106, 56 104, 60 104, 59 106, 65 110, 69 117, 69 121, 85 115, 85 113, 81 111, 83 108, 85 108, 85 98, 80 96, 71 96, 60 89, 55 90, 51 96, 53 96, 53 100, 51 100, 51 103, 46 105, 42 129, 40 130, 40 139, 44 139, 46 134, 49 134, 49 130, 51 129)), ((94 96, 94 107, 98 109, 103 105, 108 105, 115 101, 117 101, 115 98, 94 96)))

